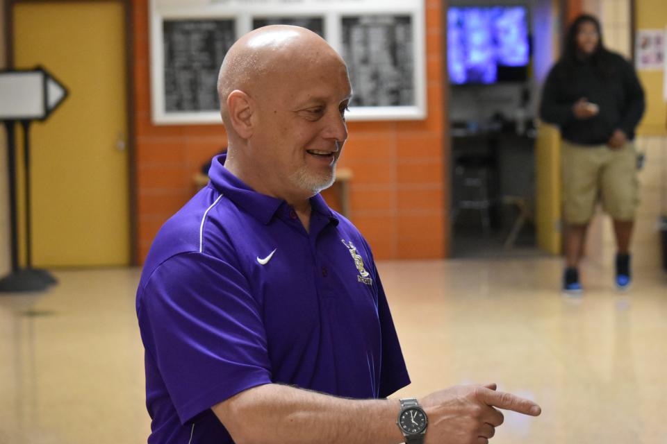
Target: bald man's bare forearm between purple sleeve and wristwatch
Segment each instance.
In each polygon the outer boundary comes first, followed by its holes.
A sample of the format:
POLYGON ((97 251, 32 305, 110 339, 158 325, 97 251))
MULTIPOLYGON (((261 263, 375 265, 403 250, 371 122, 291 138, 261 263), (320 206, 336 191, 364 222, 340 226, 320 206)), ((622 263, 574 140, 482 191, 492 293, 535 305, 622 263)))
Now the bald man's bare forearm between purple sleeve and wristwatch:
POLYGON ((279 384, 249 388, 213 407, 238 444, 401 443, 399 410, 398 400, 349 400, 279 384))

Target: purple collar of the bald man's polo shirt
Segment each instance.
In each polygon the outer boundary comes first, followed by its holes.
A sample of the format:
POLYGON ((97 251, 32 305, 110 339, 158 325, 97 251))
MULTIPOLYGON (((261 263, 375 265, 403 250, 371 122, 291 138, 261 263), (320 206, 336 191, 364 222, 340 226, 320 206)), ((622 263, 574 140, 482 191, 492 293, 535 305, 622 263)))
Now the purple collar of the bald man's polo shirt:
MULTIPOLYGON (((286 201, 254 191, 224 167, 225 160, 227 160, 227 154, 213 157, 211 169, 208 170, 208 177, 211 178, 213 187, 258 221, 264 224, 270 223, 278 210, 283 205, 287 205, 286 201)), ((311 207, 313 212, 326 216, 330 223, 338 225, 338 218, 320 194, 311 197, 311 207)))

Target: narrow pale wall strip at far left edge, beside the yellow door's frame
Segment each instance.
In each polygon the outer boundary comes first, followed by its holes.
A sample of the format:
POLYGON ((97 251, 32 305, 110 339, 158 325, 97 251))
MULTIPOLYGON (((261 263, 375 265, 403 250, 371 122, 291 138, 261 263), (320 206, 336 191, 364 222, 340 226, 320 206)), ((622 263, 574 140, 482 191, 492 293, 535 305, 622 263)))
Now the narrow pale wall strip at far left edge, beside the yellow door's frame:
MULTIPOLYGON (((5 1, 0 0, 0 69, 6 67, 4 13, 5 1)), ((9 191, 7 183, 7 137, 4 125, 0 125, 0 277, 10 268, 9 257, 9 191)))

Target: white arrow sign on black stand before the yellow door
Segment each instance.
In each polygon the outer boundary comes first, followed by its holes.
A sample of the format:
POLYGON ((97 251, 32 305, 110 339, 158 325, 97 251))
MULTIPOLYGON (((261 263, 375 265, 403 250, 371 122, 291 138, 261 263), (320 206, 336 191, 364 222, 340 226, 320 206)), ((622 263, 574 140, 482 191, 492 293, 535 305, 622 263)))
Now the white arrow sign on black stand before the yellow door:
POLYGON ((56 279, 45 270, 32 266, 30 205, 30 124, 46 120, 67 97, 67 89, 46 69, 0 71, 0 121, 7 129, 7 157, 10 204, 11 264, 10 274, 0 279, 0 292, 42 291, 56 279), (26 209, 26 267, 19 267, 18 211, 16 186, 15 126, 20 122, 24 133, 24 187, 26 209))

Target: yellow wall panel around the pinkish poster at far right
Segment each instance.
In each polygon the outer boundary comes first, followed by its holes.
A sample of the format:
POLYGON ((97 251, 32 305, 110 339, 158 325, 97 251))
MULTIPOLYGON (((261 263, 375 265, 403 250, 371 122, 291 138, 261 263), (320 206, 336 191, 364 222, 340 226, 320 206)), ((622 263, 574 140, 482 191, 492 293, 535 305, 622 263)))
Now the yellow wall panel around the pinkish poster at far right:
MULTIPOLYGON (((637 0, 635 5, 635 26, 638 30, 665 29, 667 1, 637 0)), ((639 78, 646 91, 647 107, 638 133, 640 135, 666 135, 667 103, 663 99, 663 72, 639 71, 639 78)))

